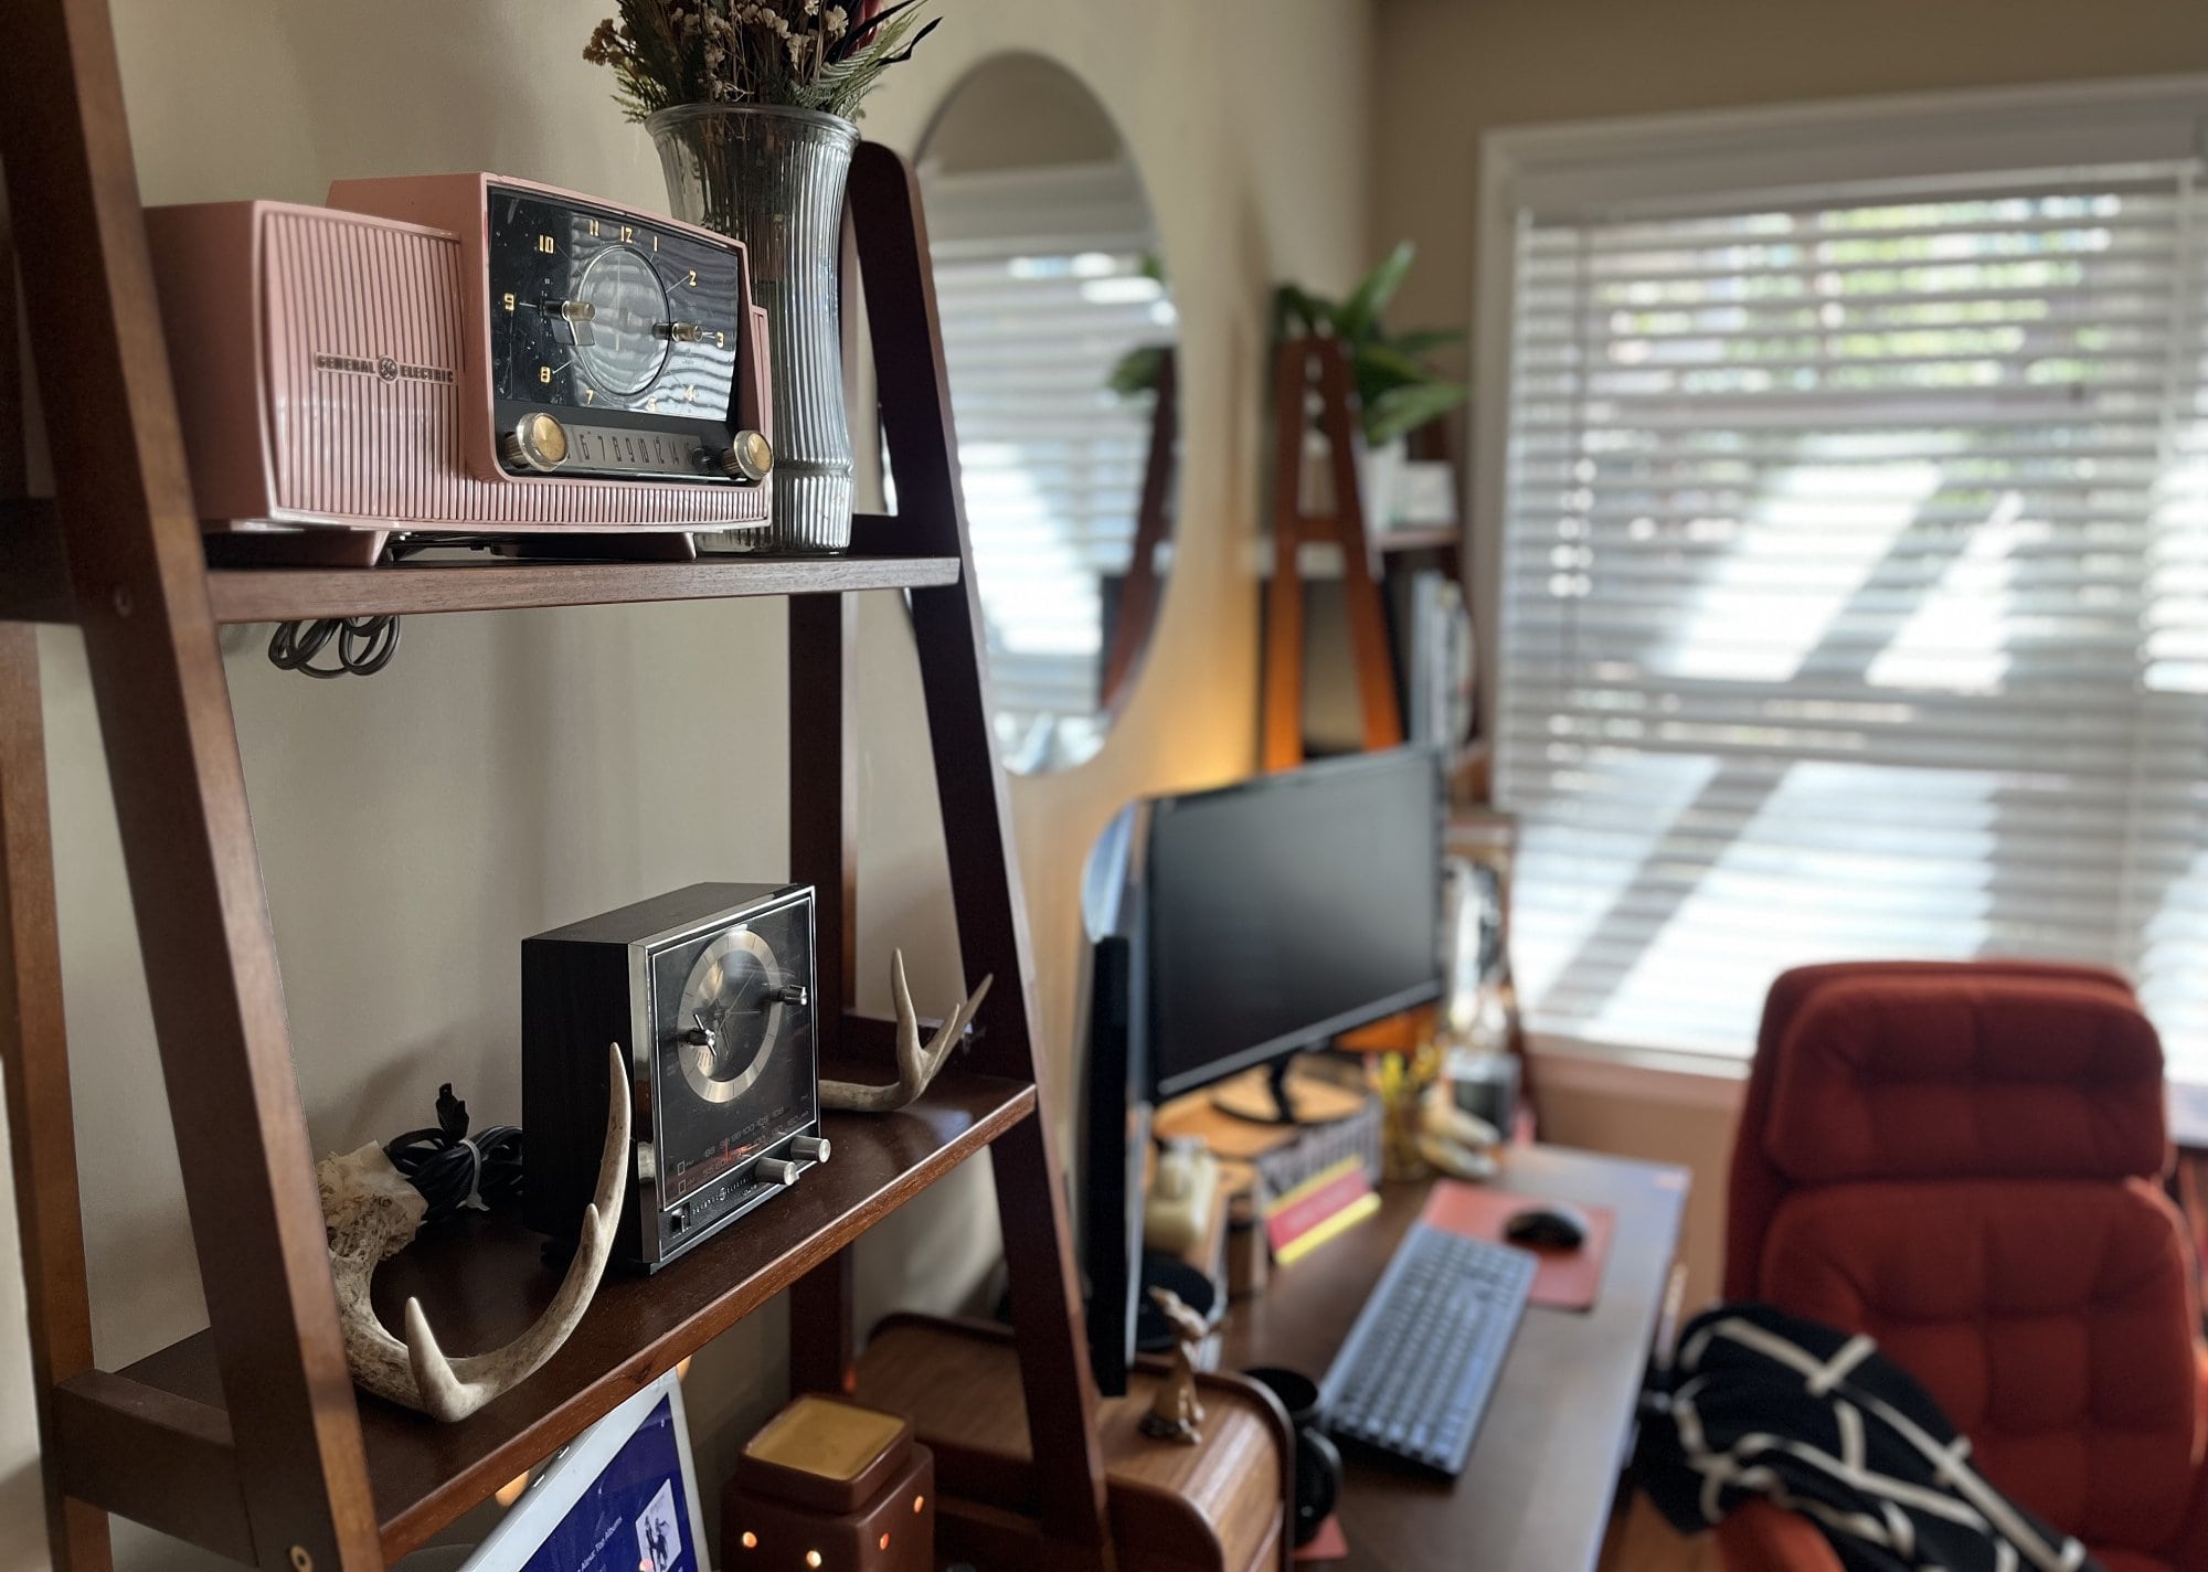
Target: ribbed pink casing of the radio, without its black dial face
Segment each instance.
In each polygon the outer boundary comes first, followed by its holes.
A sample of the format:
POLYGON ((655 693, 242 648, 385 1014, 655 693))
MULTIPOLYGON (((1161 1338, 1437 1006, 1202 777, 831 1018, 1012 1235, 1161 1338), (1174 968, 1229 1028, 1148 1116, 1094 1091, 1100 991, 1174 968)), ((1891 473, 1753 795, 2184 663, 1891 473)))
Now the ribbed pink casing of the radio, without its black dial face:
MULTIPOLYGON (((300 554, 373 561, 389 532, 766 523, 768 486, 510 475, 499 466, 481 236, 488 179, 424 177, 331 192, 406 199, 448 214, 448 223, 473 212, 470 230, 459 232, 274 201, 148 210, 192 492, 210 530, 338 525, 371 539, 340 543, 316 532, 300 554)), ((749 278, 737 320, 749 320, 751 333, 729 415, 771 431, 766 316, 751 305, 749 278)))

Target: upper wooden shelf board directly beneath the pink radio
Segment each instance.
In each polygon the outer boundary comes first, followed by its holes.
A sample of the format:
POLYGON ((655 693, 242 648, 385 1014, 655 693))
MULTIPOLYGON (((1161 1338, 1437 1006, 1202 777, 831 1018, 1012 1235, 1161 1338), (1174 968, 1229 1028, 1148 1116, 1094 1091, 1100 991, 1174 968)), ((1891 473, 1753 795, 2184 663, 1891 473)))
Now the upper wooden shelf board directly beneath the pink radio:
POLYGON ((954 583, 958 583, 956 556, 704 556, 696 563, 495 561, 208 570, 216 623, 925 590, 954 583))

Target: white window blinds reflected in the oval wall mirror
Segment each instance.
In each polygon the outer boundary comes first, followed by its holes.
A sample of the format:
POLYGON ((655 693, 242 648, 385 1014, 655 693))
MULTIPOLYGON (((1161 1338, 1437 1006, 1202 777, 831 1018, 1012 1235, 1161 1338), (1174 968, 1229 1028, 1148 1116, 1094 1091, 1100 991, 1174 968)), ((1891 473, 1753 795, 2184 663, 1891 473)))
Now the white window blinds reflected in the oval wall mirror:
POLYGON ((1175 336, 1142 188, 1124 163, 941 177, 930 208, 998 742, 1016 768, 1089 757, 1102 581, 1128 570, 1150 450, 1148 400, 1106 382, 1175 336))

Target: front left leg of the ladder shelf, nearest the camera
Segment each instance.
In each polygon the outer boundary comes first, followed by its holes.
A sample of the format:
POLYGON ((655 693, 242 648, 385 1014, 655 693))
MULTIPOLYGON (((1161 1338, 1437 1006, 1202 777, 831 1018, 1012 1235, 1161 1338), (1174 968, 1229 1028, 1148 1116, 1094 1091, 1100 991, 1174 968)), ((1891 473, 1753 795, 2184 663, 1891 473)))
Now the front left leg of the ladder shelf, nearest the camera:
POLYGON ((254 1559, 382 1568, 108 0, 9 7, 0 157, 254 1559))

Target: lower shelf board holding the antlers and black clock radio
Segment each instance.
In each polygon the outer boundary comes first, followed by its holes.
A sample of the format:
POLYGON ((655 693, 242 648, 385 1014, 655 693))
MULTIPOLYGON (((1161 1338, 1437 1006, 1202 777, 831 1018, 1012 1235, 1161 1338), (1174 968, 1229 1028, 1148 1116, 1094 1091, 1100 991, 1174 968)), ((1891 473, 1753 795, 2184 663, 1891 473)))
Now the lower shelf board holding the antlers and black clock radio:
MULTIPOLYGON (((1033 1113, 1031 1084, 956 1069, 901 1113, 832 1113, 832 1161, 656 1276, 607 1272, 567 1345, 481 1413, 437 1424, 360 1393, 384 1559, 424 1546, 1033 1113)), ((497 1347, 528 1327, 559 1287, 541 1243, 510 1217, 455 1219, 378 1274, 378 1311, 395 1325, 404 1300, 417 1296, 448 1353, 497 1347)), ((119 1373, 212 1406, 223 1402, 205 1331, 119 1373)))

